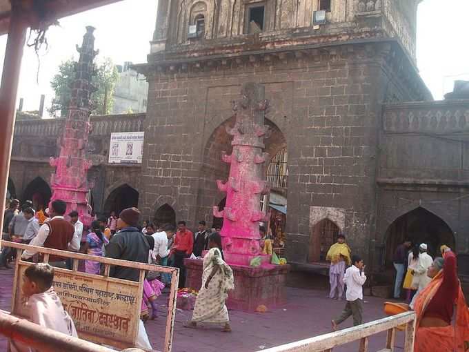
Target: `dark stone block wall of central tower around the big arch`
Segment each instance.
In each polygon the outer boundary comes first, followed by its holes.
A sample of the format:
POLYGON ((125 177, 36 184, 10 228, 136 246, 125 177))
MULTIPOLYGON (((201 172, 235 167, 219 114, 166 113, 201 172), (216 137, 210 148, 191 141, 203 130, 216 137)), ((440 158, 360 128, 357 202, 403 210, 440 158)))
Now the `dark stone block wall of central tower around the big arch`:
POLYGON ((278 130, 266 140, 268 148, 288 148, 288 259, 308 261, 311 207, 343 210, 341 230, 368 255, 380 103, 390 84, 402 99, 430 98, 412 65, 398 65, 402 54, 387 43, 357 44, 206 58, 149 72, 143 212, 151 217, 169 204, 190 226, 212 217, 211 207, 223 197, 214 181, 227 173, 220 159, 221 151, 230 152, 223 132, 231 123, 230 101, 254 81, 266 88, 272 105, 266 118, 278 130))

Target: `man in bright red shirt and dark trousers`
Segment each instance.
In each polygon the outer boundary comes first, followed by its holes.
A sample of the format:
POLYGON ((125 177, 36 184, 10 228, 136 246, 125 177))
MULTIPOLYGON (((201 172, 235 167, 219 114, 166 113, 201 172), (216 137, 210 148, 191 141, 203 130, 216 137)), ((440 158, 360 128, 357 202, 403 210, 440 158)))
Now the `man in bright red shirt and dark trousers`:
POLYGON ((171 248, 171 255, 174 255, 174 266, 179 268, 179 289, 186 284, 186 266, 184 259, 190 257, 194 246, 194 235, 186 227, 186 222, 177 223, 177 233, 174 244, 171 248))

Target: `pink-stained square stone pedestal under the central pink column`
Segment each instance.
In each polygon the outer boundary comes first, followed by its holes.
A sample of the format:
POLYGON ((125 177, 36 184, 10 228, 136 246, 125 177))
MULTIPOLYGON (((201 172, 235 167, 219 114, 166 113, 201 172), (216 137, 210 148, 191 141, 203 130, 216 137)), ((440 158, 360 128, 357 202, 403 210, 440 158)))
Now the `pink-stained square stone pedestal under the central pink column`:
MULTIPOLYGON (((187 268, 186 287, 199 290, 202 286, 202 260, 184 260, 187 268)), ((234 291, 228 295, 228 309, 255 311, 263 304, 268 309, 286 304, 286 280, 290 266, 252 268, 230 265, 234 274, 234 291)))

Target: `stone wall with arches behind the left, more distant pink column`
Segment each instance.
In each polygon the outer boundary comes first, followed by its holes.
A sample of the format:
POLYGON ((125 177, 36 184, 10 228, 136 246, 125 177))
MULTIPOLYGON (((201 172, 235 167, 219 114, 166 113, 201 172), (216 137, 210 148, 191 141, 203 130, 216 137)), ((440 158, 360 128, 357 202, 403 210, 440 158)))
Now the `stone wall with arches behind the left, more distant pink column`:
MULTIPOLYGON (((108 164, 110 135, 114 132, 135 132, 143 130, 145 114, 92 116, 92 132, 88 153, 93 167, 88 179, 95 184, 92 196, 95 211, 100 212, 106 198, 113 189, 128 184, 140 190, 140 165, 117 166, 108 164), (107 188, 106 188, 107 187, 107 188)), ((49 158, 59 153, 57 138, 62 133, 65 119, 39 119, 17 121, 14 126, 10 180, 15 195, 26 197, 28 184, 37 177, 50 184, 53 168, 49 158)))

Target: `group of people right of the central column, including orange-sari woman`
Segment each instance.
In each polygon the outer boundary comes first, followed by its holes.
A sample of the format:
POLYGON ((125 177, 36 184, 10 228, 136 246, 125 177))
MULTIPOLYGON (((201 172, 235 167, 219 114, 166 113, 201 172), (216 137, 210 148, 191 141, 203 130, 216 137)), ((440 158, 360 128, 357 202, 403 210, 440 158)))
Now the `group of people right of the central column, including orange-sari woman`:
MULTIPOLYGON (((427 250, 427 244, 412 246, 406 239, 393 256, 394 298, 400 300, 401 289, 406 289, 408 309, 417 315, 415 351, 468 351, 469 310, 457 277, 456 255, 451 248, 442 245, 441 257, 433 260, 427 250)), ((346 306, 341 315, 332 320, 332 329, 337 330, 350 316, 354 326, 362 324, 363 285, 366 283, 363 260, 352 255, 342 234, 330 247, 326 260, 330 261, 329 297, 341 300, 346 286, 346 306)))

